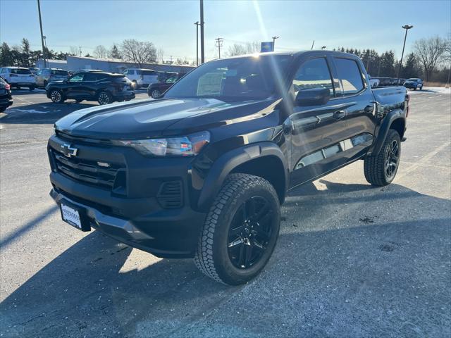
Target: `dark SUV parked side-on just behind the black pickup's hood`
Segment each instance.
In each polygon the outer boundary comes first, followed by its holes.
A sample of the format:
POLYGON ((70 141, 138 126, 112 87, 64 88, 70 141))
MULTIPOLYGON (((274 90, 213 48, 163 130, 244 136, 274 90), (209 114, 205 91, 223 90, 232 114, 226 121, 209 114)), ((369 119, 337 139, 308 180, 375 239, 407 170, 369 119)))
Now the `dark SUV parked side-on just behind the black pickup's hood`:
POLYGON ((75 73, 67 80, 50 82, 45 89, 47 97, 56 104, 74 99, 77 102, 98 101, 103 105, 135 98, 132 82, 125 75, 113 73, 75 73))

